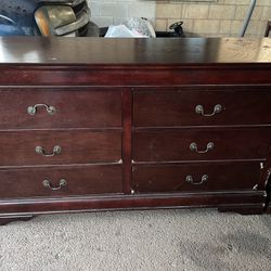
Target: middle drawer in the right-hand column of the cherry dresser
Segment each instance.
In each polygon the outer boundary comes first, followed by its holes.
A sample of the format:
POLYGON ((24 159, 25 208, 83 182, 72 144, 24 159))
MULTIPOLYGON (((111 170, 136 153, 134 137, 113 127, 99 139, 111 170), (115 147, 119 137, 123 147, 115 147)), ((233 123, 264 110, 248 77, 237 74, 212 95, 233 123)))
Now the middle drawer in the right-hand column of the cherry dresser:
POLYGON ((134 162, 266 159, 269 128, 134 131, 134 162))

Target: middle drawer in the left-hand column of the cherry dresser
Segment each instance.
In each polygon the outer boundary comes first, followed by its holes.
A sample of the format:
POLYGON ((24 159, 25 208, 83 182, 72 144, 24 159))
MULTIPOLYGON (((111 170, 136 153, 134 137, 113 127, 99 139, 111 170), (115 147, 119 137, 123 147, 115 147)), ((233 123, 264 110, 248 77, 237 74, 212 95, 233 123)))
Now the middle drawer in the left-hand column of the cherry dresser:
POLYGON ((121 131, 2 131, 0 153, 0 167, 118 163, 121 131))

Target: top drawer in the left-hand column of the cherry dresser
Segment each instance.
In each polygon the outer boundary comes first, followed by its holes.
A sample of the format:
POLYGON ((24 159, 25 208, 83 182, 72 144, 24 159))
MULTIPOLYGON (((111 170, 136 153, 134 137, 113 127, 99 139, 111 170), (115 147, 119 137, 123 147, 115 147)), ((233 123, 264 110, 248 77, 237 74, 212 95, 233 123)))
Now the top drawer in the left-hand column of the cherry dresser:
POLYGON ((117 89, 0 89, 0 129, 120 126, 117 89))

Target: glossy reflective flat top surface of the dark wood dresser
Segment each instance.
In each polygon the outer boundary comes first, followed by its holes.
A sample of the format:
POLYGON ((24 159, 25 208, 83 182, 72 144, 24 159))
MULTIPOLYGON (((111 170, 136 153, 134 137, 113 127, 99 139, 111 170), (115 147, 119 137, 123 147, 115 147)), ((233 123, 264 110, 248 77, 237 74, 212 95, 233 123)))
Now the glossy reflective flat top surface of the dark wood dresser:
POLYGON ((271 39, 1 37, 0 64, 190 65, 271 63, 271 39))

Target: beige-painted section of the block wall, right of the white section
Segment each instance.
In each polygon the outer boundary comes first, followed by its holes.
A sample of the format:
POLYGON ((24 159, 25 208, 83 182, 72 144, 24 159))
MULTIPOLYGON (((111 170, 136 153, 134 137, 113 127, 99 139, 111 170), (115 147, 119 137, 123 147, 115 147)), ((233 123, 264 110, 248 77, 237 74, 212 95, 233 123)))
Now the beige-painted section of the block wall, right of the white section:
MULTIPOLYGON (((218 0, 216 3, 156 2, 156 30, 166 30, 176 21, 183 21, 192 36, 237 36, 250 0, 218 0)), ((271 20, 271 0, 258 0, 246 37, 262 37, 267 20, 271 20)))

